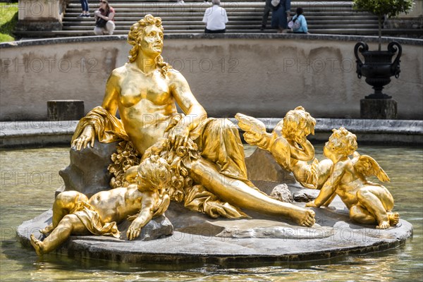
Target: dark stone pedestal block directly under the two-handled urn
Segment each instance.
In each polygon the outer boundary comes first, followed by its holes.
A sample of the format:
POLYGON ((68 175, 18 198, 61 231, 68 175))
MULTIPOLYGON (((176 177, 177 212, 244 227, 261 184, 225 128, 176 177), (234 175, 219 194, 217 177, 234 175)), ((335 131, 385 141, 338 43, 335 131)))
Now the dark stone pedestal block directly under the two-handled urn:
POLYGON ((360 118, 397 119, 397 102, 394 99, 361 99, 360 118))

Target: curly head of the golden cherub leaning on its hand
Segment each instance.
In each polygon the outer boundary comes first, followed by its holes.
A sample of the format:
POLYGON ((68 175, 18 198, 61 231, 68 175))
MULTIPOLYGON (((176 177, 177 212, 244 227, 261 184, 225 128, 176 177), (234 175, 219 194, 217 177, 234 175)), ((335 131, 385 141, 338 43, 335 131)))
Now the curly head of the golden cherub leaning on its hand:
POLYGON ((282 135, 295 142, 305 142, 307 135, 314 135, 316 120, 302 106, 288 111, 283 118, 282 135))

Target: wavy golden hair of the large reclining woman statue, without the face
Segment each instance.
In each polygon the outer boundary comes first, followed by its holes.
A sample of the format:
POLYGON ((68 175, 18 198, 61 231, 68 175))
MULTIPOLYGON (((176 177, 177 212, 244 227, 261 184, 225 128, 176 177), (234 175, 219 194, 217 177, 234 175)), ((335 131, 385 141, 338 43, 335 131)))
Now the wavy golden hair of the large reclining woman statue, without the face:
MULTIPOLYGON (((130 27, 130 31, 128 33, 128 43, 133 45, 132 49, 129 51, 128 59, 130 63, 133 63, 138 56, 138 52, 140 51, 140 40, 142 36, 144 36, 145 27, 149 25, 155 25, 163 31, 163 26, 161 25, 161 18, 154 17, 150 14, 145 15, 145 17, 141 20, 138 20, 137 23, 134 23, 130 27)), ((163 76, 166 76, 168 71, 172 68, 168 63, 164 62, 163 57, 161 55, 157 56, 156 58, 157 66, 160 68, 160 73, 163 76)))

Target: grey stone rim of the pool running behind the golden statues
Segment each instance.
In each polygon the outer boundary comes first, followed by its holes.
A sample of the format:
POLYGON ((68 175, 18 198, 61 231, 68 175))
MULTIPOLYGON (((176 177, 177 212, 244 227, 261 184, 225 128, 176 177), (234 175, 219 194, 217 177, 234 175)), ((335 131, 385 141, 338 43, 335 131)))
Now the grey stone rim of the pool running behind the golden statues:
MULTIPOLYGON (((231 121, 237 123, 235 118, 231 121)), ((271 131, 281 118, 259 118, 271 131)), ((327 141, 331 130, 344 126, 357 140, 381 144, 423 144, 423 121, 316 118, 315 135, 309 140, 327 141)), ((70 144, 78 121, 2 121, 0 148, 70 144)))

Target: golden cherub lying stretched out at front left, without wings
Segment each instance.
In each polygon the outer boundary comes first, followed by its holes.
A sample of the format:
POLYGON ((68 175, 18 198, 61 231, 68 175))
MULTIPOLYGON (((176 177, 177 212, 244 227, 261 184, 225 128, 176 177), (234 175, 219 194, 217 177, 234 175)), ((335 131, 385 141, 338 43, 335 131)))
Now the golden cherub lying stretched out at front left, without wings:
POLYGON ((34 234, 30 236, 37 255, 55 250, 72 234, 92 233, 119 238, 116 224, 127 218, 134 220, 126 235, 129 240, 135 240, 153 216, 166 212, 170 199, 168 195, 160 195, 159 191, 168 185, 171 177, 166 160, 158 156, 142 161, 137 171, 137 184, 128 188, 101 191, 90 199, 77 191, 57 195, 53 204, 53 222, 40 230, 49 235, 43 241, 34 234))

